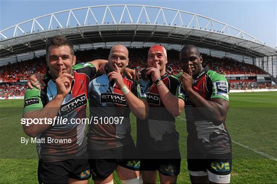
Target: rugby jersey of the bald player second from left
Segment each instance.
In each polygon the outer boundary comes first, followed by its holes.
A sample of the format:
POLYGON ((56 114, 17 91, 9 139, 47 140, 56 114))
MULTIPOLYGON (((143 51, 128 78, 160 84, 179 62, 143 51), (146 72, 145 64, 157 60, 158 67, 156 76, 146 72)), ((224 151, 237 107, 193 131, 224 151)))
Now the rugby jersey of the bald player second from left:
MULTIPOLYGON (((140 84, 125 75, 123 80, 127 88, 145 99, 140 84)), ((109 81, 107 74, 94 78, 89 84, 90 119, 88 148, 105 150, 130 144, 131 136, 130 108, 120 88, 109 81), (120 122, 115 123, 115 118, 120 122)))

